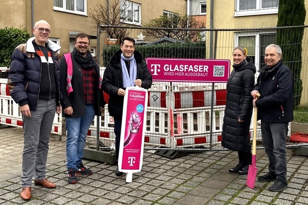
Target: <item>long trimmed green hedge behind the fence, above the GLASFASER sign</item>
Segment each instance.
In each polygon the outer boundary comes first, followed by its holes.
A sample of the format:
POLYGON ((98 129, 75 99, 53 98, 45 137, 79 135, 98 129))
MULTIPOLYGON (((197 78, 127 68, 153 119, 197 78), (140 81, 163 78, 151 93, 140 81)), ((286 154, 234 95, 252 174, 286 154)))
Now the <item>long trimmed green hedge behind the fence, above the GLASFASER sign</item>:
MULTIPOLYGON (((107 66, 112 55, 120 49, 119 45, 109 46, 103 49, 103 66, 107 66)), ((184 44, 156 44, 143 45, 135 48, 144 58, 165 57, 165 58, 205 58, 205 42, 186 42, 184 44)))

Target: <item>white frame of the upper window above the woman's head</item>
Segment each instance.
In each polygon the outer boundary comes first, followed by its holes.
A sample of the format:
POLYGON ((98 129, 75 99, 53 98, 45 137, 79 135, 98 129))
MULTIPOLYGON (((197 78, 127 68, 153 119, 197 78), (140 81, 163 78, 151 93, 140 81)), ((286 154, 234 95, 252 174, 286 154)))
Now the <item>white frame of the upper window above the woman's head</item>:
MULTIPOLYGON (((277 0, 279 1, 279 0, 277 0)), ((234 16, 249 16, 249 15, 264 15, 264 14, 277 14, 277 8, 261 8, 262 0, 256 0, 256 9, 241 11, 240 0, 235 0, 235 14, 234 16)))

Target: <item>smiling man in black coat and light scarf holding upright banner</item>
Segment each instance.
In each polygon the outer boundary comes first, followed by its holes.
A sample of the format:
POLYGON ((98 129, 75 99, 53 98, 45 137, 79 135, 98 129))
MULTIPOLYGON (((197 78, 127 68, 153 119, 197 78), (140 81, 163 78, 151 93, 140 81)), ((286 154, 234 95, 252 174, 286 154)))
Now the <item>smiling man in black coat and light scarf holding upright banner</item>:
MULTIPOLYGON (((121 43, 121 50, 110 59, 103 77, 102 89, 109 94, 108 110, 114 119, 115 152, 117 162, 119 158, 123 101, 127 87, 139 86, 149 89, 152 85, 152 75, 149 72, 143 56, 135 50, 135 40, 125 37, 121 43)), ((115 171, 117 176, 123 173, 115 171)))

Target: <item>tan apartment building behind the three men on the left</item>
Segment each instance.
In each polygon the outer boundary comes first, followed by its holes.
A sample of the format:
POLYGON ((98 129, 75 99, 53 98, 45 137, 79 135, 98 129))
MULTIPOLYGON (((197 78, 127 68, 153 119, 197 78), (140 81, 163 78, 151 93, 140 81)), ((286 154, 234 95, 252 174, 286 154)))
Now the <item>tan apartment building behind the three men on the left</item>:
MULTIPOLYGON (((168 12, 186 14, 185 0, 169 0, 168 4, 164 0, 6 0, 0 8, 0 28, 26 28, 32 33, 34 23, 44 19, 51 27, 50 39, 62 47, 61 53, 71 51, 76 34, 85 32, 90 35, 91 52, 96 55, 97 25, 92 22, 90 15, 98 5, 107 9, 111 1, 120 2, 124 8, 121 19, 128 26, 142 27, 150 19, 168 12)), ((105 37, 102 35, 101 42, 105 42, 105 37)))

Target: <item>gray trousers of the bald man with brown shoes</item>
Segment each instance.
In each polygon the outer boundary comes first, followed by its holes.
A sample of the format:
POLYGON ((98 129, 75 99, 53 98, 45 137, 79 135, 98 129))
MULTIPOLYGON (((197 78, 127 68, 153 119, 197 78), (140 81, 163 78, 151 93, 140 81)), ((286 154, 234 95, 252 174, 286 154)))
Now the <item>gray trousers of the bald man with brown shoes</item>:
POLYGON ((46 162, 49 149, 49 139, 56 111, 55 99, 38 100, 36 111, 31 111, 31 117, 23 117, 24 151, 22 187, 31 187, 32 178, 46 178, 46 162))

